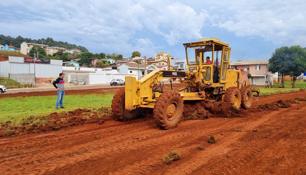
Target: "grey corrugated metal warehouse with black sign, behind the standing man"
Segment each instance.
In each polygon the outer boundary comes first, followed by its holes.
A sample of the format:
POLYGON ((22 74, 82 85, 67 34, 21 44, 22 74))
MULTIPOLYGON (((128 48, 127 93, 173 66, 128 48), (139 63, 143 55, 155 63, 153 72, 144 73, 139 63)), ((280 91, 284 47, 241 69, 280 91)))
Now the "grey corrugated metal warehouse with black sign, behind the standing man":
POLYGON ((47 82, 57 78, 62 72, 62 60, 9 56, 8 61, 0 61, 0 77, 11 78, 21 83, 47 82), (34 66, 35 65, 35 66, 34 66))

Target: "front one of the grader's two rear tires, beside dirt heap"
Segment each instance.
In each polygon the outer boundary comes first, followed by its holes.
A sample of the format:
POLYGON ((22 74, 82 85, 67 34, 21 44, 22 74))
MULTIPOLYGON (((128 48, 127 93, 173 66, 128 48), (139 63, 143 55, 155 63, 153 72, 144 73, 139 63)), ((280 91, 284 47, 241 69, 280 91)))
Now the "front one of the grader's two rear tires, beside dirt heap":
POLYGON ((240 108, 241 94, 237 87, 230 87, 225 91, 223 101, 226 103, 233 103, 234 106, 240 108))

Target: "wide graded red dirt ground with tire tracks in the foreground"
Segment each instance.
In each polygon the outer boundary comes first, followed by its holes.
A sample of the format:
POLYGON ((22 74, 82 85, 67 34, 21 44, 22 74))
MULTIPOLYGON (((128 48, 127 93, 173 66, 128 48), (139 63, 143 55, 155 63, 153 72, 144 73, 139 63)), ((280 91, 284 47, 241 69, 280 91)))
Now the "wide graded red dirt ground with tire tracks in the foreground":
MULTIPOLYGON (((253 98, 251 109, 238 112, 223 103, 186 104, 184 120, 170 130, 151 117, 112 120, 105 109, 97 121, 1 137, 0 174, 305 175, 306 101, 298 97, 305 100, 306 92, 253 98), (215 143, 207 143, 211 135, 215 143), (172 150, 180 159, 163 164, 172 150)), ((84 112, 69 117, 77 120, 84 112)))

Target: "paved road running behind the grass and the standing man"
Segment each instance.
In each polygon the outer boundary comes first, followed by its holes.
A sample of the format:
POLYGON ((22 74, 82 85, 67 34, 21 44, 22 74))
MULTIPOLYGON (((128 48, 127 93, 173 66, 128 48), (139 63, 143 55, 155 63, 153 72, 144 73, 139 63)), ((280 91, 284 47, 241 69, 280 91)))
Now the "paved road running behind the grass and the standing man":
MULTIPOLYGON (((169 81, 163 81, 164 84, 169 84, 169 81)), ((177 83, 177 81, 173 82, 177 83)), ((98 84, 98 85, 80 85, 80 86, 65 86, 65 90, 77 90, 77 89, 96 89, 96 88, 114 88, 121 87, 122 85, 110 86, 110 83, 98 84)), ((123 86, 122 86, 123 87, 123 86)), ((56 90, 54 86, 50 87, 36 87, 36 88, 19 88, 19 89, 6 89, 5 93, 19 93, 19 92, 40 92, 40 91, 53 91, 56 90)))

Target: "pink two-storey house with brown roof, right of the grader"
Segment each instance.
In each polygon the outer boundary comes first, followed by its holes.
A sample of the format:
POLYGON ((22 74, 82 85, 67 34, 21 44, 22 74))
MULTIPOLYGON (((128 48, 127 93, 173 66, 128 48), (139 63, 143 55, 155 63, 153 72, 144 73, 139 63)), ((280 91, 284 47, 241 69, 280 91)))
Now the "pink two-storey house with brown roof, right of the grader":
POLYGON ((248 80, 247 74, 252 74, 249 84, 251 85, 265 85, 267 81, 273 84, 273 74, 268 72, 267 65, 269 60, 257 61, 235 61, 230 63, 230 66, 235 69, 241 69, 241 82, 248 80))

